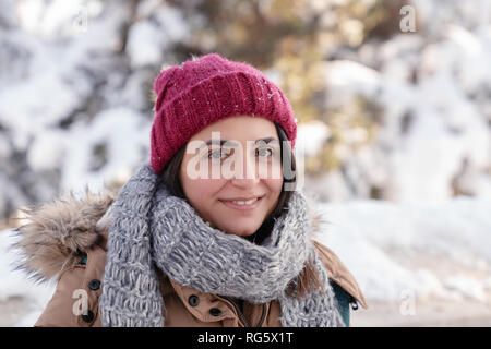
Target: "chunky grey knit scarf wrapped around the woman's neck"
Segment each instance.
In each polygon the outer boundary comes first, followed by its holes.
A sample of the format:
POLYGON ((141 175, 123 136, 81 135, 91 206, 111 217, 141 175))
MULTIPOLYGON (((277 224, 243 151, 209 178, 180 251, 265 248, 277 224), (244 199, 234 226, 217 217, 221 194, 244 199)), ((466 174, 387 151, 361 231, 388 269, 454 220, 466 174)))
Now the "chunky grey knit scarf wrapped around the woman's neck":
POLYGON ((212 228, 185 200, 170 195, 148 165, 124 184, 110 215, 99 302, 104 326, 165 325, 157 268, 201 292, 254 304, 277 300, 285 327, 344 326, 315 256, 308 205, 299 192, 261 245, 212 228), (309 258, 324 291, 297 299, 296 282, 309 258), (290 285, 294 292, 288 296, 290 285))

